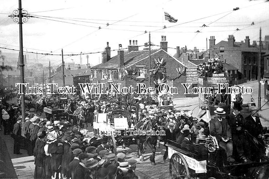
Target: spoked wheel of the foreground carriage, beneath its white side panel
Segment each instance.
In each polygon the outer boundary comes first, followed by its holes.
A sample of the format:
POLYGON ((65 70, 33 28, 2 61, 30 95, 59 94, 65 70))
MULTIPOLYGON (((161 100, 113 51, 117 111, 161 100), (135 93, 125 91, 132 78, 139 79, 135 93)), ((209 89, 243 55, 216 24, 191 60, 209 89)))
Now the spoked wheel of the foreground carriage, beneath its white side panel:
POLYGON ((174 153, 169 163, 170 178, 190 178, 188 164, 182 155, 174 153))

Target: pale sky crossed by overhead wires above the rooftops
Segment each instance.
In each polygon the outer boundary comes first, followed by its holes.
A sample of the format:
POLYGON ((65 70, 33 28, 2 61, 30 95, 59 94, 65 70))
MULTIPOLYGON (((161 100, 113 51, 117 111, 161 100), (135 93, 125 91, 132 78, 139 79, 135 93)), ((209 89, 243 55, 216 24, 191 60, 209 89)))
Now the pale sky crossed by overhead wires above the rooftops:
MULTIPOLYGON (((0 4, 0 47, 19 49, 19 25, 8 17, 18 8, 18 0, 0 0, 0 4)), ((260 27, 262 39, 269 35, 269 1, 264 0, 22 0, 22 7, 34 16, 23 24, 25 51, 61 54, 63 48, 64 54, 92 52, 91 66, 101 62, 106 42, 115 50, 113 56, 119 44, 127 48, 129 40, 144 45, 149 41, 148 32, 154 45, 166 35, 172 55, 176 46, 205 50, 210 36, 215 36, 216 43, 227 40, 228 35, 239 42, 249 36, 252 44, 259 40, 260 27), (236 7, 239 10, 233 11, 236 7), (178 19, 177 23, 166 21, 164 12, 178 19)), ((152 46, 155 48, 159 46, 152 46)), ((29 55, 36 58, 36 54, 29 55)), ((81 57, 86 64, 86 54, 81 57)), ((80 63, 80 55, 64 59, 65 63, 80 63)), ((59 65, 62 57, 38 54, 35 63, 49 60, 59 65)))

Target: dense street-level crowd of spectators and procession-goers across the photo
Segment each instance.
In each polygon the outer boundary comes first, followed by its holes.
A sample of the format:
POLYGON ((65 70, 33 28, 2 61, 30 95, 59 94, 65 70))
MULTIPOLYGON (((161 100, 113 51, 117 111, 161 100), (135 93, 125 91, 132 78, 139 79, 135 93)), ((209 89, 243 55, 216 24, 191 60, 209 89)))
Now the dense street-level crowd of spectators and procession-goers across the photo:
MULTIPOLYGON (((242 104, 239 102, 226 117, 224 109, 217 108, 214 111, 217 116, 208 123, 193 117, 192 111, 159 109, 152 105, 149 94, 115 95, 102 99, 89 96, 68 99, 65 111, 73 116, 69 121, 57 118, 53 121, 52 118, 27 113, 23 124, 20 107, 16 104, 1 105, 0 118, 5 135, 14 138, 14 154, 21 154, 23 145, 28 155, 34 155, 35 178, 137 178, 134 173, 136 160, 125 160, 124 153, 114 154, 107 136, 89 140, 87 125, 84 128, 79 126, 80 117, 91 126, 94 113, 112 113, 118 109, 124 111, 120 117, 127 118, 129 128, 155 120, 166 132, 163 140, 173 140, 184 150, 195 150, 197 146, 194 144, 205 142, 209 135, 216 137, 230 164, 256 161, 264 152, 261 151, 263 128, 255 106, 250 107, 252 115, 246 118, 240 114, 242 104)), ((110 120, 113 123, 113 118, 110 120)), ((159 140, 162 139, 158 139, 156 147, 159 140)), ((164 160, 167 157, 168 151, 164 160)))

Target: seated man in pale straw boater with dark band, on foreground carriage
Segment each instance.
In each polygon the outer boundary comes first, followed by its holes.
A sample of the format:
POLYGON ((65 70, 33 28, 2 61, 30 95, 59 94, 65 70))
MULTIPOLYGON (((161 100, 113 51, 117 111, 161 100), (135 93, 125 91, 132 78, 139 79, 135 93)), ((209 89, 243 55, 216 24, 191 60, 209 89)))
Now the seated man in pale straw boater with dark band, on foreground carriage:
POLYGON ((210 135, 217 138, 219 145, 225 150, 227 154, 227 161, 233 163, 235 159, 233 155, 233 141, 231 128, 223 115, 226 113, 223 108, 218 107, 214 110, 216 117, 210 121, 210 135))

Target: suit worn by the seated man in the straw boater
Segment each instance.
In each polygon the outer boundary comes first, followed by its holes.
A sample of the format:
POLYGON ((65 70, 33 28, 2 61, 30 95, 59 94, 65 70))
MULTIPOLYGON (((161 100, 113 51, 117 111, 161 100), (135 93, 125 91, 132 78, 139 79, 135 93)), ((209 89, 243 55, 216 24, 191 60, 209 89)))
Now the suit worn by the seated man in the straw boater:
POLYGON ((218 120, 218 117, 214 117, 210 122, 210 135, 217 138, 219 145, 226 151, 227 157, 233 154, 233 141, 229 140, 224 142, 223 138, 232 138, 230 126, 225 118, 222 118, 222 122, 218 120), (224 130, 224 131, 223 131, 224 130))

